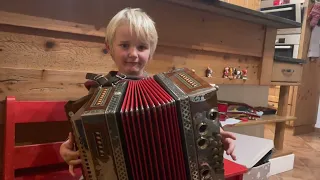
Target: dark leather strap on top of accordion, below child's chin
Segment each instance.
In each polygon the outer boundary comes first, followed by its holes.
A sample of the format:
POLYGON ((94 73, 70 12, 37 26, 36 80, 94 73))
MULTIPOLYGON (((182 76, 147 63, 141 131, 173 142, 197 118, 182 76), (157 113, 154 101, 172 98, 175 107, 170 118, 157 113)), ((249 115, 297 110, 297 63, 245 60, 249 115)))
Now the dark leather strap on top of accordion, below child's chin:
POLYGON ((107 75, 95 74, 95 73, 87 73, 86 79, 95 81, 99 86, 115 86, 122 80, 139 80, 145 78, 145 76, 132 76, 121 74, 118 71, 110 71, 107 75))

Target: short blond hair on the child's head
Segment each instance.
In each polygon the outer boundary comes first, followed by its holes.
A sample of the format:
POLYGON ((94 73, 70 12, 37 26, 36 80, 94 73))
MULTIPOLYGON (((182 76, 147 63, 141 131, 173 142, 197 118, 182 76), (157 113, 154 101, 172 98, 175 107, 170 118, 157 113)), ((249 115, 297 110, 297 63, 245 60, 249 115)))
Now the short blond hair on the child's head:
POLYGON ((109 22, 105 41, 112 50, 112 44, 117 28, 123 23, 130 25, 137 37, 150 45, 150 58, 153 56, 158 43, 158 33, 154 21, 140 8, 125 8, 118 12, 109 22))

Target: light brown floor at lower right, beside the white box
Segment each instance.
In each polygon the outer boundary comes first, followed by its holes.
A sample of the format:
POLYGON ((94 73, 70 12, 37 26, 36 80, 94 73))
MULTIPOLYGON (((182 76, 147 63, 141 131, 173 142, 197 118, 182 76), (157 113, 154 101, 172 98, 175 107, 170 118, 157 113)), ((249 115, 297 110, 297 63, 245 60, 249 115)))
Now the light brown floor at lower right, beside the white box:
MULTIPOLYGON (((265 138, 273 139, 274 126, 265 126, 265 138)), ((293 136, 292 129, 285 132, 285 150, 295 154, 294 169, 271 176, 270 180, 320 180, 320 133, 293 136)))

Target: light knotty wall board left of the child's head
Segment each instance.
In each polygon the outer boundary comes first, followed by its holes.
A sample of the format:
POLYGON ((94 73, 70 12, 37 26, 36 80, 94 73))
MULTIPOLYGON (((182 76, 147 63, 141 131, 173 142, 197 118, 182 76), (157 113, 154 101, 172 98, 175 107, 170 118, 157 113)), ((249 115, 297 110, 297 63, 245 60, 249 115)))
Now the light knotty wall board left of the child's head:
POLYGON ((106 71, 103 39, 0 25, 0 67, 106 71))

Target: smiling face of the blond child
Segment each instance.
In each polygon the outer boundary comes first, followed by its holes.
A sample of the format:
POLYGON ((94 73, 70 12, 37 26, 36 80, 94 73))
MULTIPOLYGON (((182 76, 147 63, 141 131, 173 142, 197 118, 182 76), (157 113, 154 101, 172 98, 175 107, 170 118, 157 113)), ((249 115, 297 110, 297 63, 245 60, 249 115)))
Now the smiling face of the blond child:
POLYGON ((131 35, 128 25, 121 25, 116 30, 111 53, 119 72, 141 76, 150 57, 150 46, 135 33, 131 35))

